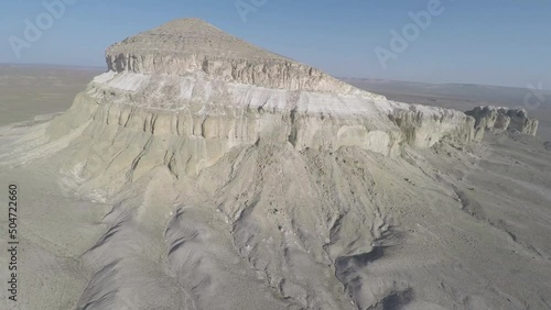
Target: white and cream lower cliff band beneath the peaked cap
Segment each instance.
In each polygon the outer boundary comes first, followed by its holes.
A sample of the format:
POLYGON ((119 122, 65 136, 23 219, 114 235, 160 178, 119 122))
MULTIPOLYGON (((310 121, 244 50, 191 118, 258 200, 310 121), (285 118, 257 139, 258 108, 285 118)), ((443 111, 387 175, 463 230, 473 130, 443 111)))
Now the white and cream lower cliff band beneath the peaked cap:
POLYGON ((273 90, 204 74, 107 73, 47 132, 54 140, 89 122, 71 166, 82 165, 84 179, 123 175, 121 184, 158 165, 193 176, 244 144, 291 143, 299 151, 358 146, 396 156, 403 144, 429 147, 444 136, 471 137, 464 113, 403 108, 369 93, 273 90))

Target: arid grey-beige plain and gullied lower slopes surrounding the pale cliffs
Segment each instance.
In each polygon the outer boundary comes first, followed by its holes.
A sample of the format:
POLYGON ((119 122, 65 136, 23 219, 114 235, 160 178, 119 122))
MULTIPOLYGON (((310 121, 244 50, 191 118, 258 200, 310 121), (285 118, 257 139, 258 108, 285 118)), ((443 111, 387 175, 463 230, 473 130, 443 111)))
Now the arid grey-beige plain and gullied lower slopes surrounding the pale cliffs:
MULTIPOLYGON (((75 171, 62 168, 69 158, 48 154, 76 137, 44 147, 42 123, 52 117, 36 119, 68 109, 99 73, 0 66, 3 245, 10 184, 20 203, 19 308, 7 299, 3 269, 1 309, 303 309, 312 300, 324 309, 551 309, 551 102, 529 110, 540 120, 536 137, 487 133, 472 145, 407 148, 398 158, 357 147, 239 146, 196 179, 149 171, 114 204, 75 192, 75 171), (357 202, 364 219, 345 214, 329 234, 317 233, 321 214, 357 202), (229 226, 220 210, 233 203, 250 208, 229 226), (354 239, 363 228, 372 240, 354 239), (343 248, 356 254, 313 263, 343 248), (268 285, 274 279, 279 287, 268 285)), ((516 107, 525 96, 349 82, 461 111, 516 107)), ((0 266, 9 261, 3 251, 0 266)))

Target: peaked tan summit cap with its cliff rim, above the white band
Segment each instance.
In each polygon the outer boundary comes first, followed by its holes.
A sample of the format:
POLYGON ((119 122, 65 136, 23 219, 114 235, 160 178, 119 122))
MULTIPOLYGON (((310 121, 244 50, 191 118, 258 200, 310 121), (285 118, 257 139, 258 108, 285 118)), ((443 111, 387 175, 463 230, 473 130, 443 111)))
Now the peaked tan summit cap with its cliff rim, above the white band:
POLYGON ((318 69, 271 53, 199 19, 175 20, 107 48, 115 73, 185 76, 288 90, 358 92, 318 69))

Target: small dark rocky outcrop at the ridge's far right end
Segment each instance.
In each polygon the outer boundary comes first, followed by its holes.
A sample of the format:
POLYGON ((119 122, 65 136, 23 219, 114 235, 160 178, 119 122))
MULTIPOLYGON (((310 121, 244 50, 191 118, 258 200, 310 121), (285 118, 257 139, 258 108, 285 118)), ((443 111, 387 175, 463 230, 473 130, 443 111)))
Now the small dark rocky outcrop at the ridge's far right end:
POLYGON ((485 131, 509 131, 528 135, 536 135, 538 131, 538 120, 529 118, 523 109, 477 107, 465 114, 475 119, 476 136, 482 136, 485 131))

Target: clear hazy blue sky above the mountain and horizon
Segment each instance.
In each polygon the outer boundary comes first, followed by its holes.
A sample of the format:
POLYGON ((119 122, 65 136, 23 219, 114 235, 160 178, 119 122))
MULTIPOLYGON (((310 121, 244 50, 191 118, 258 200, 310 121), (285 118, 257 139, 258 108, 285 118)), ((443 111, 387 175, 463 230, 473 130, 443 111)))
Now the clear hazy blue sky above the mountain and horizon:
POLYGON ((48 13, 44 3, 60 1, 0 2, 0 63, 105 67, 108 45, 196 16, 339 77, 551 89, 547 0, 63 0, 61 14, 48 13), (411 24, 420 11, 421 26, 411 24), (44 30, 25 36, 33 26, 44 30), (392 47, 391 31, 404 27, 407 46, 392 47))

